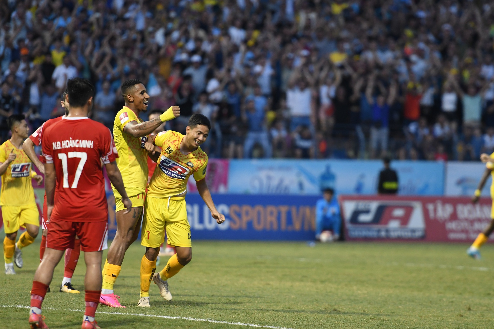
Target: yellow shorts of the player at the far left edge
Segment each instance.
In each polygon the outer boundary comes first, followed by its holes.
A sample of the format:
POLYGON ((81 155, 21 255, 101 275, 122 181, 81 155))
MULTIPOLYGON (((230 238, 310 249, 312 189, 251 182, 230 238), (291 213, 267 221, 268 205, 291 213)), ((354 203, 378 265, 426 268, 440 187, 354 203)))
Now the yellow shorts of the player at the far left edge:
POLYGON ((40 226, 40 213, 36 203, 23 206, 1 206, 3 229, 5 233, 14 233, 25 224, 40 226))

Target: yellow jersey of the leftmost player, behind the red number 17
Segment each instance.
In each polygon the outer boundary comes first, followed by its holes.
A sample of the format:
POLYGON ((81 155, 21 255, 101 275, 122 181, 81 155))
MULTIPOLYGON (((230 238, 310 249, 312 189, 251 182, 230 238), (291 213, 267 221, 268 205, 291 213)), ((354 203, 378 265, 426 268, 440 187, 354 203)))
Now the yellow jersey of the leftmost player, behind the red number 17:
POLYGON ((36 203, 31 178, 36 176, 31 160, 22 149, 10 140, 0 146, 0 162, 5 162, 10 153, 16 155, 7 171, 1 176, 0 206, 22 206, 36 203))

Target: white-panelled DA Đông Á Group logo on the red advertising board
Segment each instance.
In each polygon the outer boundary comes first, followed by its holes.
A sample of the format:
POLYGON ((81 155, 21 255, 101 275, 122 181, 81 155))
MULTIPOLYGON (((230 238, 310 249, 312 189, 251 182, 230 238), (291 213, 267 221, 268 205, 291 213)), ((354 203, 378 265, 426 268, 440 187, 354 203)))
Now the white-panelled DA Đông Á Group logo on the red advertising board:
POLYGON ((421 239, 425 236, 422 204, 416 201, 343 201, 350 238, 421 239))

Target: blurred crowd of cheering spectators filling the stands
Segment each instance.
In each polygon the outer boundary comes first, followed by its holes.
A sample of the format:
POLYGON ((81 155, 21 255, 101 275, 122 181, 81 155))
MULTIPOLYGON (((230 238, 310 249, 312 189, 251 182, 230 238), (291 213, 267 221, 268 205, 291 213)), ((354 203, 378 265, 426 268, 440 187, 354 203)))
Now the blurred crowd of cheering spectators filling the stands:
MULTIPOLYGON (((202 113, 211 157, 476 160, 494 150, 494 5, 456 0, 3 0, 0 138, 63 114, 67 79, 120 85, 184 131, 202 113)), ((141 115, 147 119, 146 114, 141 115)))

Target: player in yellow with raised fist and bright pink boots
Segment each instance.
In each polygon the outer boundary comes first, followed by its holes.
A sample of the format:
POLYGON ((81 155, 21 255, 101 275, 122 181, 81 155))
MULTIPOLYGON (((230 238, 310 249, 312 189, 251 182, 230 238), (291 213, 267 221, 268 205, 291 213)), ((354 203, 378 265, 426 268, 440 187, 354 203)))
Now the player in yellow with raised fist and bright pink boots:
POLYGON ((117 113, 113 124, 113 136, 119 158, 117 165, 122 173, 125 190, 133 208, 127 213, 119 191, 113 187, 116 204, 117 233, 108 250, 105 265, 103 267, 103 286, 100 302, 110 307, 124 307, 113 292, 113 286, 122 268, 125 251, 137 239, 144 195, 148 182, 148 152, 144 148, 147 135, 151 134, 163 122, 180 115, 180 108, 170 107, 159 117, 143 122, 139 118, 140 112, 145 112, 148 107, 149 95, 146 87, 136 79, 127 80, 122 84, 122 96, 125 106, 117 113))

